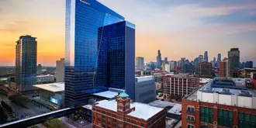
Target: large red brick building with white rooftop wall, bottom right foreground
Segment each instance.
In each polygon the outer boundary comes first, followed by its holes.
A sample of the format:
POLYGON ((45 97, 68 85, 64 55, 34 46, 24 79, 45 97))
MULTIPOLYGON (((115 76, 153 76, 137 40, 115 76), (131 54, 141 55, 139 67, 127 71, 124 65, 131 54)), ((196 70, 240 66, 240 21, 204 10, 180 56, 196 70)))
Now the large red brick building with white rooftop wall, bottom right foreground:
POLYGON ((182 99, 182 128, 256 127, 254 91, 210 87, 208 83, 182 99))

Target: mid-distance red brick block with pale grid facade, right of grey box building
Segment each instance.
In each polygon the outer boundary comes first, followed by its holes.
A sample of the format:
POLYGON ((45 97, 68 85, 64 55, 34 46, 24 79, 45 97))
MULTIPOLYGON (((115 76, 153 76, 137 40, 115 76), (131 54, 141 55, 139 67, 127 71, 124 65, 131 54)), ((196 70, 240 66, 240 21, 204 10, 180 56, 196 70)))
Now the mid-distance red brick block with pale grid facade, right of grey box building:
POLYGON ((199 87, 199 77, 182 75, 166 75, 163 77, 164 95, 189 95, 199 87))

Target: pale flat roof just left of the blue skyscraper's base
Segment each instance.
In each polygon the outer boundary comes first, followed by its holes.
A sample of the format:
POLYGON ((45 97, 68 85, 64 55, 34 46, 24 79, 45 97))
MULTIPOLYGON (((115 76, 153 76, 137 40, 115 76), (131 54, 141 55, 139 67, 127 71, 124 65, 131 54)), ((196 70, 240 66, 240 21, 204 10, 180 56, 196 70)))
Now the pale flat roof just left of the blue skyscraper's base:
POLYGON ((47 90, 50 92, 64 92, 65 84, 64 82, 59 83, 50 83, 50 84, 42 84, 42 85, 33 85, 36 88, 40 88, 43 90, 47 90))

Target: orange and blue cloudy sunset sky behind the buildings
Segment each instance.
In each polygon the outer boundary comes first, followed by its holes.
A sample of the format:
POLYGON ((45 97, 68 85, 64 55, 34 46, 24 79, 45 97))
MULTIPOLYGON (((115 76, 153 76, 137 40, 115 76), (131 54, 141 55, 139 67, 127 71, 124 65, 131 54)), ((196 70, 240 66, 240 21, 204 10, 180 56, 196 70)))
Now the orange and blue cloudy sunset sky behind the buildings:
MULTIPOLYGON (((136 56, 189 61, 208 51, 227 57, 239 47, 240 61, 256 66, 256 1, 99 0, 136 25, 136 56)), ((0 0, 0 65, 15 64, 16 40, 37 37, 37 63, 64 57, 65 0, 0 0)))

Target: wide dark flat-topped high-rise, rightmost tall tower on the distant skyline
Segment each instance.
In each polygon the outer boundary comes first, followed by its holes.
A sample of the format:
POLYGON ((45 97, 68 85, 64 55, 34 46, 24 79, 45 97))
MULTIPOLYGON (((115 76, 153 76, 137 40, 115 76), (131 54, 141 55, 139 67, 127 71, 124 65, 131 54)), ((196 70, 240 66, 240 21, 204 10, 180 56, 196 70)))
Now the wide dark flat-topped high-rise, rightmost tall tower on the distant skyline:
POLYGON ((238 48, 231 48, 230 51, 228 51, 228 62, 230 77, 237 78, 240 63, 240 51, 238 48))

